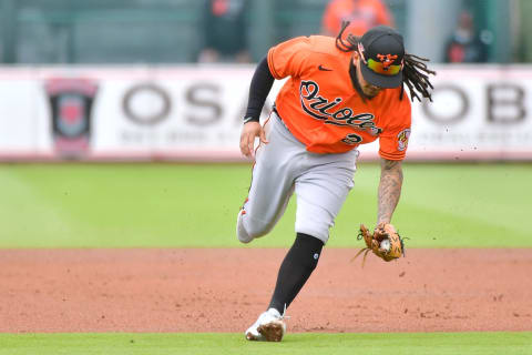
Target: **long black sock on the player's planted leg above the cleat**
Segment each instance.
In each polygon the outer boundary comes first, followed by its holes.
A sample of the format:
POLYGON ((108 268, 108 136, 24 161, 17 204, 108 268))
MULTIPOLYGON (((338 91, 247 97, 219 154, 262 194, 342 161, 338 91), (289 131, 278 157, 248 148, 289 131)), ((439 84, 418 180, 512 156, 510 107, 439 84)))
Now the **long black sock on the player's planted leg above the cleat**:
POLYGON ((268 308, 276 308, 283 314, 288 308, 303 285, 318 265, 324 242, 308 234, 297 233, 294 245, 280 264, 274 295, 268 308))

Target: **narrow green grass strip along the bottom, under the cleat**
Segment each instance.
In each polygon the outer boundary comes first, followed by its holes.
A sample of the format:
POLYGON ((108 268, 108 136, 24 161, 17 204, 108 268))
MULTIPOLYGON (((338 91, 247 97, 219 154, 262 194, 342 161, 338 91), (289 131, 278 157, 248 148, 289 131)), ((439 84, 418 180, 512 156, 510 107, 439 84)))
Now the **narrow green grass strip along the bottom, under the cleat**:
POLYGON ((531 354, 532 333, 289 334, 253 343, 242 334, 0 334, 0 355, 531 354))

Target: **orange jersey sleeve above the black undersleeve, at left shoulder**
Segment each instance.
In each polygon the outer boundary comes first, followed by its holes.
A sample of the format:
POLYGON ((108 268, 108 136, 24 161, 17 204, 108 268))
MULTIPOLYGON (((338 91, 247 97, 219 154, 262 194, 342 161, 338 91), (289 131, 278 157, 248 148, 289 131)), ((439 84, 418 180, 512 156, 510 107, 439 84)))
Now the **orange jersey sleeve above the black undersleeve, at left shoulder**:
POLYGON ((309 49, 308 37, 296 37, 268 51, 268 67, 275 79, 299 77, 305 69, 309 49))

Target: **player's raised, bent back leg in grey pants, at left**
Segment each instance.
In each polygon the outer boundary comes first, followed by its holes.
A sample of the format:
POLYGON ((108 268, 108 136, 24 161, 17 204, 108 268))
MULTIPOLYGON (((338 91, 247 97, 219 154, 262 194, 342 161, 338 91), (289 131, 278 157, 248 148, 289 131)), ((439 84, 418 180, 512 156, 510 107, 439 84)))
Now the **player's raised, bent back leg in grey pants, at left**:
POLYGON ((284 214, 294 192, 295 155, 304 150, 274 113, 265 131, 269 143, 257 149, 249 193, 237 216, 236 234, 243 243, 267 234, 284 214))

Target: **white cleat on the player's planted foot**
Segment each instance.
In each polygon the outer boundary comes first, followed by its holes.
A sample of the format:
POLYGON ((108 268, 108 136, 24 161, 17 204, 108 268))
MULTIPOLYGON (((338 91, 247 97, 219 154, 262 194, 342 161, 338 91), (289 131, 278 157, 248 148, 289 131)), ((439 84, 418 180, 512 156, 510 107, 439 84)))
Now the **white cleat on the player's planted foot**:
POLYGON ((280 342, 286 333, 286 324, 283 316, 275 308, 260 314, 246 331, 246 339, 256 342, 280 342))

